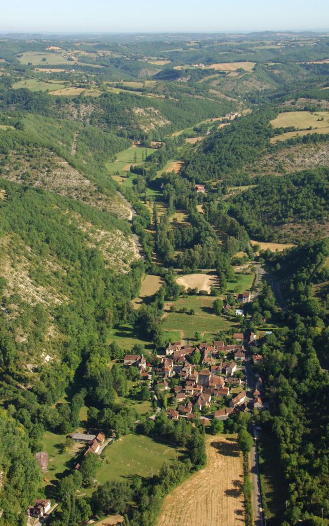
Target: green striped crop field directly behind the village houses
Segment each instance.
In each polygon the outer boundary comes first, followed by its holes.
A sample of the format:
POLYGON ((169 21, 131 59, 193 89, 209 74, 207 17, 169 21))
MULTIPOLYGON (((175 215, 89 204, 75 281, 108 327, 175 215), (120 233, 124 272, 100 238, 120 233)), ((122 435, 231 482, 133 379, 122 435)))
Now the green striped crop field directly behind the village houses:
MULTIPOLYGON (((166 304, 167 312, 163 322, 163 329, 165 331, 179 331, 180 338, 193 339, 197 331, 214 336, 217 331, 228 330, 237 326, 236 323, 232 323, 223 316, 218 316, 214 313, 212 308, 214 300, 213 296, 188 296, 175 302, 168 302, 166 304), (171 305, 175 305, 177 310, 183 307, 187 311, 194 309, 195 314, 168 312, 171 305)), ((170 339, 169 336, 167 337, 170 339)))

